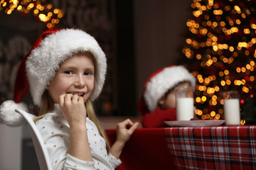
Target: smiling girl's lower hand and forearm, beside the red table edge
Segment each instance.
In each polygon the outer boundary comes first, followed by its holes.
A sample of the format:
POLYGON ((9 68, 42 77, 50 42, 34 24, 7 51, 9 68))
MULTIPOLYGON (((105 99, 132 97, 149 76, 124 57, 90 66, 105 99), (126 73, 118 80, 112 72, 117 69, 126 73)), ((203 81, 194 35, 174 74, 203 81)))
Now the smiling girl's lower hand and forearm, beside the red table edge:
POLYGON ((125 143, 127 142, 127 140, 129 140, 138 125, 139 123, 132 123, 132 121, 129 119, 117 124, 117 140, 110 148, 110 153, 114 157, 116 157, 117 159, 120 157, 125 143))

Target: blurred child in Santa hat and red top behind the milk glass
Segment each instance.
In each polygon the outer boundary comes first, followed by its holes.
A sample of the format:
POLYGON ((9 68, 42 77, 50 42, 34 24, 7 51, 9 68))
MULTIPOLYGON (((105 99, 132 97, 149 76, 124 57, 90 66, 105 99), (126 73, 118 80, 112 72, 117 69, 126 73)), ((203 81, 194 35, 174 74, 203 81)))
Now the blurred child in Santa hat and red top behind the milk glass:
POLYGON ((152 73, 144 84, 144 92, 137 105, 144 128, 167 127, 164 121, 176 120, 177 86, 196 88, 196 79, 183 66, 164 67, 152 73))

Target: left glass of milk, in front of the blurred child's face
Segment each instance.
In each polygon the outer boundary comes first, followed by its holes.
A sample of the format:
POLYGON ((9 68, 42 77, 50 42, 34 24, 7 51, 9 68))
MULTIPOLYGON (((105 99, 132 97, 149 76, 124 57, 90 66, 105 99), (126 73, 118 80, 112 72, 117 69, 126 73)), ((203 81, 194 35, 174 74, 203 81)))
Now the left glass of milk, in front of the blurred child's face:
POLYGON ((177 86, 176 118, 177 120, 191 120, 193 118, 193 88, 191 86, 177 86))

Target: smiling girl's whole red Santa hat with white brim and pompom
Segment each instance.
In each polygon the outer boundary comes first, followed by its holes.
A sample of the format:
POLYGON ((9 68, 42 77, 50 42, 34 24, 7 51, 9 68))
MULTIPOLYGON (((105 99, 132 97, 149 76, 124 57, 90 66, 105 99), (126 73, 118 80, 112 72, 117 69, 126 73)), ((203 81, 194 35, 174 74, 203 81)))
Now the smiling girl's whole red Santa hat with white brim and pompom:
POLYGON ((5 101, 0 107, 0 119, 9 126, 23 124, 23 118, 15 109, 28 111, 22 99, 29 92, 36 106, 41 106, 41 97, 55 76, 60 64, 77 52, 90 51, 95 57, 95 88, 93 101, 102 91, 107 71, 105 53, 95 38, 78 29, 46 30, 26 55, 18 68, 14 88, 14 101, 5 101))

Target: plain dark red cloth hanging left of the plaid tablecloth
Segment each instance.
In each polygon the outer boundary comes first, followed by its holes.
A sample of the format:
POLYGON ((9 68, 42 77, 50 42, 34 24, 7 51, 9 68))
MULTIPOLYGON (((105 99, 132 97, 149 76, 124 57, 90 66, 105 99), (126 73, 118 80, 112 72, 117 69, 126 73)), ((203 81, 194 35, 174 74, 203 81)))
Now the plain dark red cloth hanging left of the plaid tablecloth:
MULTIPOLYGON (((105 130, 112 145, 115 130, 105 130)), ((171 170, 174 161, 164 138, 164 128, 137 129, 125 145, 120 156, 122 164, 117 170, 171 170)))

